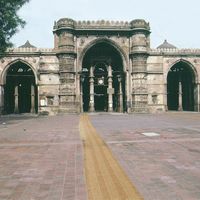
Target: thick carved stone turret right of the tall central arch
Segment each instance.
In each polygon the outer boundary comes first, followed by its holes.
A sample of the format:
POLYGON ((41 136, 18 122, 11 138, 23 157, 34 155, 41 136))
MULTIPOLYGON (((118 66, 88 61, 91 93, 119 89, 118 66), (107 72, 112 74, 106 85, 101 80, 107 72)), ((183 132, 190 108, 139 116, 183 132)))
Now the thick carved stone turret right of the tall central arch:
POLYGON ((147 58, 149 49, 149 24, 140 19, 131 23, 130 44, 132 63, 132 111, 148 112, 147 58))

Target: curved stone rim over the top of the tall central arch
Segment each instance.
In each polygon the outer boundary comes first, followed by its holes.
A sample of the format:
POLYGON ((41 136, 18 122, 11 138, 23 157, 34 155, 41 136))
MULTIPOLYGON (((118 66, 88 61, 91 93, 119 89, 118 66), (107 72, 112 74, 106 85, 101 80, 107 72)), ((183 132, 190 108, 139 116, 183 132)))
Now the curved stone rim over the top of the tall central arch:
POLYGON ((126 69, 128 67, 128 58, 126 56, 126 53, 122 50, 122 48, 115 41, 108 39, 108 38, 97 38, 95 40, 92 40, 89 44, 86 45, 86 47, 82 50, 82 52, 80 53, 80 56, 79 56, 79 63, 81 65, 81 67, 82 67, 83 59, 84 59, 87 51, 91 47, 93 47, 94 45, 99 44, 99 43, 109 44, 118 51, 118 53, 120 54, 122 61, 123 61, 124 71, 126 71, 126 69))

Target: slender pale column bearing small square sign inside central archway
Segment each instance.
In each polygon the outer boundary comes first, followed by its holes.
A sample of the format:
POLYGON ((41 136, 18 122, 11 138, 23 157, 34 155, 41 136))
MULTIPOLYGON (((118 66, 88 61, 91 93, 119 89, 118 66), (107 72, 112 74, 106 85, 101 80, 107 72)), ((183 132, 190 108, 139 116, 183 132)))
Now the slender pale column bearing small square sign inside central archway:
POLYGON ((113 112, 112 68, 108 66, 108 112, 113 112))

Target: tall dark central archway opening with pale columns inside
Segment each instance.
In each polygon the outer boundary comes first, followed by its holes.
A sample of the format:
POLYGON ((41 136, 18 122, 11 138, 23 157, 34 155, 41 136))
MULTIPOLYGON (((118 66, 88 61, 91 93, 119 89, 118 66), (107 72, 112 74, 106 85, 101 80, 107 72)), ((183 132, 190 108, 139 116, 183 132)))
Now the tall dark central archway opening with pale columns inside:
POLYGON ((84 112, 126 110, 123 62, 112 45, 100 42, 86 52, 81 77, 84 112))

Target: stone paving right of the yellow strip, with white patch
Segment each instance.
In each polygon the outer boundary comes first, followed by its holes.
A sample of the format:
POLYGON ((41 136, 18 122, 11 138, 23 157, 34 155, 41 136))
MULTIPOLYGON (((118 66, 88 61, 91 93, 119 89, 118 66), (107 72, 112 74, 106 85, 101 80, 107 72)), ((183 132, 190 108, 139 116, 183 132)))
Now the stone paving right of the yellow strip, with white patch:
POLYGON ((91 114, 90 119, 145 200, 200 199, 199 113, 91 114))

